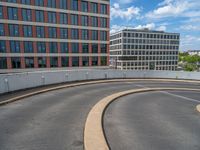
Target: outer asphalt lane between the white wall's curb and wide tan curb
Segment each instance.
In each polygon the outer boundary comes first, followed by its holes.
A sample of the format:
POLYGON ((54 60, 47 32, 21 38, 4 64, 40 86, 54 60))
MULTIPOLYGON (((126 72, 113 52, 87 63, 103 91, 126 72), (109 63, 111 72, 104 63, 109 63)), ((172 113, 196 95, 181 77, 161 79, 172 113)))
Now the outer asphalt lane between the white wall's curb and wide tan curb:
POLYGON ((90 109, 105 96, 143 86, 200 88, 199 84, 186 83, 116 82, 25 98, 0 107, 0 150, 82 150, 83 130, 90 109))

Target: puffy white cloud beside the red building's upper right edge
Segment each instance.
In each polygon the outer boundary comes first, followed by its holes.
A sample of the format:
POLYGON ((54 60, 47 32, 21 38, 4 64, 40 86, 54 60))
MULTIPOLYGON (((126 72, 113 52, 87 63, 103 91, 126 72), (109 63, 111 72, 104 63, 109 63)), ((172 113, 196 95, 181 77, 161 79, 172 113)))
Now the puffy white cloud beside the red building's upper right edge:
POLYGON ((111 6, 111 19, 112 18, 121 18, 126 20, 131 20, 132 18, 139 16, 140 8, 138 7, 128 7, 128 8, 120 8, 119 3, 114 3, 111 6))

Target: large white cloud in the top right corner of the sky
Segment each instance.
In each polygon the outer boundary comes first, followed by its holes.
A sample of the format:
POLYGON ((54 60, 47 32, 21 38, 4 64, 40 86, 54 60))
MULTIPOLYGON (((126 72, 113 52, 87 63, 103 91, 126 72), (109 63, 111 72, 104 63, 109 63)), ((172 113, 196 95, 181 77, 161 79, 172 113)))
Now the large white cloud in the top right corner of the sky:
POLYGON ((146 14, 147 18, 197 17, 200 16, 199 0, 164 0, 158 8, 146 14))

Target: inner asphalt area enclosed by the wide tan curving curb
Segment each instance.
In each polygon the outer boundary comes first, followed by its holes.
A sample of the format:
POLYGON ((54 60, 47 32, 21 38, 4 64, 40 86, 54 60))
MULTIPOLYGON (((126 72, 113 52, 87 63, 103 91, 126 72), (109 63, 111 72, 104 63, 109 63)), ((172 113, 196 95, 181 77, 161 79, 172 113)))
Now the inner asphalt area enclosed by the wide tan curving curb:
POLYGON ((199 103, 200 93, 185 91, 118 99, 104 115, 111 150, 200 150, 199 103))

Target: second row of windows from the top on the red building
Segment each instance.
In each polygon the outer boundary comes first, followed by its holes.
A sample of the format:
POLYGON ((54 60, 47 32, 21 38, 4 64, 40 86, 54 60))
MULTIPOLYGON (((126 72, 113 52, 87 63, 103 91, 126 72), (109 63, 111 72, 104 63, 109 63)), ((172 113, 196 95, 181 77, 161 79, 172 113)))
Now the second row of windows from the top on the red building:
MULTIPOLYGON (((0 19, 3 19, 3 11, 2 6, 0 6, 0 19)), ((23 21, 33 21, 33 14, 31 9, 22 9, 22 20, 23 21)), ((36 22, 45 22, 45 17, 44 17, 44 11, 42 10, 36 10, 35 11, 35 21, 36 22)), ((60 24, 69 24, 68 22, 68 17, 70 17, 70 24, 71 25, 79 25, 78 22, 78 15, 76 14, 66 14, 66 13, 59 13, 59 16, 57 16, 56 12, 47 12, 47 22, 48 23, 60 23, 60 24), (60 18, 58 20, 58 18, 60 18)), ((107 27, 107 18, 103 17, 91 17, 91 21, 89 21, 89 17, 85 15, 81 15, 81 24, 82 26, 93 26, 93 27, 102 27, 106 28, 107 27), (89 25, 89 22, 91 24, 89 25)), ((8 7, 8 19, 10 20, 18 20, 18 9, 14 7, 8 7)))

